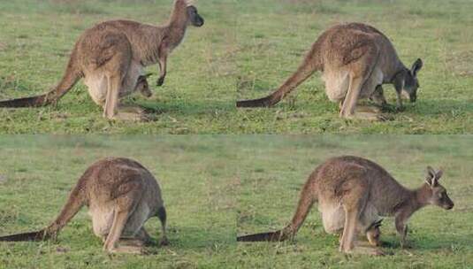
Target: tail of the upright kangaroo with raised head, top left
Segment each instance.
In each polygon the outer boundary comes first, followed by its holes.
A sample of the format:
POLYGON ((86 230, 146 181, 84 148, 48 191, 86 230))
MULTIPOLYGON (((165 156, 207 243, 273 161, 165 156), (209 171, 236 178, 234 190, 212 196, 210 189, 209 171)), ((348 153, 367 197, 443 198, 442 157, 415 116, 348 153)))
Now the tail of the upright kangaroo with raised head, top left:
POLYGON ((0 107, 42 107, 57 103, 57 101, 82 77, 79 67, 76 66, 76 54, 76 49, 74 49, 71 58, 69 59, 69 64, 65 69, 65 75, 57 84, 56 88, 53 88, 50 92, 39 96, 0 101, 0 107))

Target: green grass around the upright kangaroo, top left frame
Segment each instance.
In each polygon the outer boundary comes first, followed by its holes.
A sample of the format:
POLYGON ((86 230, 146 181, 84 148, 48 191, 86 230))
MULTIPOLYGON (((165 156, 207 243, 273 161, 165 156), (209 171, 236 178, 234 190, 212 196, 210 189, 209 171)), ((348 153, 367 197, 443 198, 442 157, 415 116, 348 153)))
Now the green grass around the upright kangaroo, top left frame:
MULTIPOLYGON (((155 95, 134 101, 156 120, 148 123, 109 122, 102 109, 78 83, 57 108, 0 110, 0 132, 10 134, 227 133, 235 117, 235 23, 232 1, 201 1, 206 19, 189 28, 184 42, 168 61, 168 77, 155 95)), ((62 77, 79 35, 107 19, 134 19, 161 24, 171 0, 16 0, 0 3, 0 99, 46 92, 62 77)), ((149 67, 157 73, 157 65, 149 67)))

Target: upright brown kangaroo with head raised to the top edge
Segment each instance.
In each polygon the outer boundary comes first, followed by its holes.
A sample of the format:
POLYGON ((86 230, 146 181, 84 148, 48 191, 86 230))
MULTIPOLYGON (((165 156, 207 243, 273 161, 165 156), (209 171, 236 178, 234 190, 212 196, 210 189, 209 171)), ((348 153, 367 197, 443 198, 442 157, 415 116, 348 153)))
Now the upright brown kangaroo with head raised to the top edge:
POLYGON ((167 58, 186 34, 187 26, 202 27, 204 20, 189 0, 175 0, 169 22, 155 27, 131 20, 110 20, 91 27, 76 42, 65 75, 56 88, 41 96, 0 102, 0 107, 39 107, 57 103, 84 78, 95 104, 107 119, 146 119, 138 106, 119 104, 131 94, 145 66, 158 64, 157 85, 164 84, 167 58))

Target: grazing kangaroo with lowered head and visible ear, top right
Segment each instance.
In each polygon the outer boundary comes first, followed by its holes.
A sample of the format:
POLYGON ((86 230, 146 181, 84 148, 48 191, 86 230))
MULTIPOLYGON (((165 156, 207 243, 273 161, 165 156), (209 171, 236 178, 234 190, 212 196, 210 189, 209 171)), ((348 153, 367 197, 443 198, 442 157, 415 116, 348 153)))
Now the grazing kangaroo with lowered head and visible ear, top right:
POLYGON ((297 71, 270 96, 237 102, 237 107, 272 106, 306 81, 313 73, 324 73, 325 93, 340 104, 342 118, 382 119, 376 108, 355 110, 359 99, 371 98, 386 104, 383 84, 393 84, 397 108, 402 94, 416 102, 417 73, 423 66, 419 58, 408 69, 398 58, 393 43, 378 29, 362 23, 339 24, 326 30, 312 45, 297 71))

